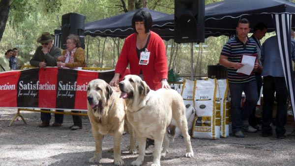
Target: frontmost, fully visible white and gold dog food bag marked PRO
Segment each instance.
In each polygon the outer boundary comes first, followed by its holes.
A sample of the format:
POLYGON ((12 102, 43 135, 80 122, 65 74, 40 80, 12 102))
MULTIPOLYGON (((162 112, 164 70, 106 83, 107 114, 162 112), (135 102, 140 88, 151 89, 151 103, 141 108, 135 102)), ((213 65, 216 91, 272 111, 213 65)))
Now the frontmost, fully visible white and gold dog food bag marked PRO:
POLYGON ((198 80, 195 92, 197 116, 193 125, 193 138, 220 138, 220 111, 216 111, 216 79, 198 80))

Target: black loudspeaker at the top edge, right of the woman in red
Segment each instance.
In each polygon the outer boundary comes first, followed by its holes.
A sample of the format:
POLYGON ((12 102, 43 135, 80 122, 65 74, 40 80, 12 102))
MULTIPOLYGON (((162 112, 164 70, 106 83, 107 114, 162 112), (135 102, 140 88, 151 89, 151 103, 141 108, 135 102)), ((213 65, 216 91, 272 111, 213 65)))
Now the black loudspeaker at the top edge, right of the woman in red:
POLYGON ((191 43, 205 41, 205 0, 175 0, 174 41, 191 43))

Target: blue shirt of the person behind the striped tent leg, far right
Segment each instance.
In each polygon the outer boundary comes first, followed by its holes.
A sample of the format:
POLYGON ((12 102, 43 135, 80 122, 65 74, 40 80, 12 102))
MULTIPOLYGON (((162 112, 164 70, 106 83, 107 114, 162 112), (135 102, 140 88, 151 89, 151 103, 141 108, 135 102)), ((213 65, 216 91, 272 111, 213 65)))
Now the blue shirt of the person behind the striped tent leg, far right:
MULTIPOLYGON (((291 40, 292 41, 292 40, 291 40)), ((294 43, 295 41, 291 42, 294 43)), ((294 60, 295 43, 291 46, 291 55, 294 60)), ((271 36, 263 43, 261 48, 261 62, 263 64, 262 76, 285 77, 277 36, 271 36)))

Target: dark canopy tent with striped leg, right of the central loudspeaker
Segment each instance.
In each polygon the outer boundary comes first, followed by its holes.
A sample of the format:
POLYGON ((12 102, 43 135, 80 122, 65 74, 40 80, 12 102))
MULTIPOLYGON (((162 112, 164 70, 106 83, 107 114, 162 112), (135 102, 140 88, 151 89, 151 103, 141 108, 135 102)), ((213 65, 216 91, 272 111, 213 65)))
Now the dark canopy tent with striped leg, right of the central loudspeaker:
MULTIPOLYGON (((277 34, 282 65, 295 114, 295 86, 291 60, 291 27, 295 3, 285 0, 223 0, 206 5, 205 33, 209 36, 236 34, 239 19, 246 18, 251 27, 263 22, 277 34)), ((295 117, 295 116, 294 116, 295 117)))

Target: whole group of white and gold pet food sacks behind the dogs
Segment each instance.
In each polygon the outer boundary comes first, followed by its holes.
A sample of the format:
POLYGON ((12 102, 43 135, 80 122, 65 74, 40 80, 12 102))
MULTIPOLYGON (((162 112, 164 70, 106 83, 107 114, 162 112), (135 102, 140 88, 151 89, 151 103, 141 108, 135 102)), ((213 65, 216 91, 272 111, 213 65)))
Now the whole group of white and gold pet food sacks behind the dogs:
MULTIPOLYGON (((189 132, 192 130, 192 138, 229 137, 228 89, 227 80, 183 80, 181 96, 186 106, 188 129, 189 132)), ((177 136, 181 134, 179 129, 176 133, 177 136)))

